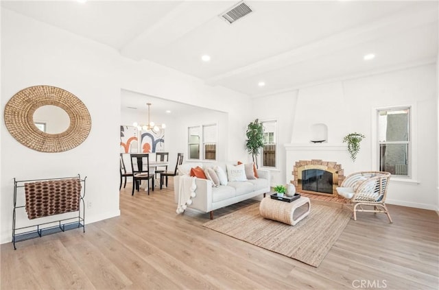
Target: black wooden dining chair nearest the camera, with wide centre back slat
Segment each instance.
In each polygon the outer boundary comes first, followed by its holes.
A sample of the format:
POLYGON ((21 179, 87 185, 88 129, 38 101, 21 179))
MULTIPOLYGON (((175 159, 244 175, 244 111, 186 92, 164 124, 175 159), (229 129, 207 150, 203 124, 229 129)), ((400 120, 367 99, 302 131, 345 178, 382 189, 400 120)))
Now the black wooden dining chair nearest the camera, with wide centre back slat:
POLYGON ((141 180, 147 180, 147 191, 150 195, 150 180, 152 180, 152 191, 154 191, 154 173, 150 173, 150 154, 130 154, 132 169, 132 193, 134 187, 139 191, 141 180))

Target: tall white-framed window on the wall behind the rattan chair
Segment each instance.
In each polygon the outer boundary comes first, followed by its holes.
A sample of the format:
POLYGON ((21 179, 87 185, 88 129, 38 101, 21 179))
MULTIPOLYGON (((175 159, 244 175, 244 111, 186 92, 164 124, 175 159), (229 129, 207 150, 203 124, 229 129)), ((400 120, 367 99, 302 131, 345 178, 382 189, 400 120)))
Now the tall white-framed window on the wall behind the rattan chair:
POLYGON ((411 108, 377 110, 379 171, 409 177, 412 167, 411 108))

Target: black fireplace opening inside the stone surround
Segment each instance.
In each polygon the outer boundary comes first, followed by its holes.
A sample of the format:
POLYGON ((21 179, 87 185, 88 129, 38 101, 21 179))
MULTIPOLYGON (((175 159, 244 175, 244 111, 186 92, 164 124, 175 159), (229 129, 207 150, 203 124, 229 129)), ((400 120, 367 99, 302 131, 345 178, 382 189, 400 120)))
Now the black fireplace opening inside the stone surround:
POLYGON ((333 174, 320 169, 302 171, 302 190, 333 194, 333 174))

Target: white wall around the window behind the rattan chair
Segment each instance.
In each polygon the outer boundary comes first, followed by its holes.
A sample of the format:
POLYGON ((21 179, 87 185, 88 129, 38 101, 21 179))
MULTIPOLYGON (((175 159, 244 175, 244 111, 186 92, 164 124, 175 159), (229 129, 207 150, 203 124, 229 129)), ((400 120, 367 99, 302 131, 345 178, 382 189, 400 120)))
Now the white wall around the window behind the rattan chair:
MULTIPOLYGON (((412 165, 414 165, 414 181, 396 182, 391 179, 388 189, 388 203, 419 208, 437 209, 438 196, 436 195, 438 176, 438 147, 432 142, 437 136, 437 79, 436 64, 425 65, 372 75, 358 80, 344 83, 346 101, 355 112, 352 119, 354 127, 359 132, 364 132, 370 138, 364 139, 364 148, 359 153, 356 163, 366 169, 376 169, 376 160, 371 160, 372 144, 372 111, 374 108, 385 106, 412 105, 412 138, 417 149, 414 152, 412 165), (368 101, 368 106, 362 100, 368 101)), ((360 167, 357 167, 359 169, 360 167)))

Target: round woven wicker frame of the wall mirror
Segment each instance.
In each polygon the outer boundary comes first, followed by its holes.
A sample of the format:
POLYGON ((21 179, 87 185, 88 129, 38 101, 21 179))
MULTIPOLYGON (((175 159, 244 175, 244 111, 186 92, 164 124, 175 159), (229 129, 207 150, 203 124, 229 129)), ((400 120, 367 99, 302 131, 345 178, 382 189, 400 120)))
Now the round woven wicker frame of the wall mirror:
POLYGON ((84 103, 67 90, 55 86, 31 86, 20 90, 5 106, 5 125, 21 144, 39 152, 64 152, 80 145, 91 129, 91 117, 84 103), (52 105, 69 114, 70 125, 59 134, 40 131, 34 123, 34 112, 52 105))

